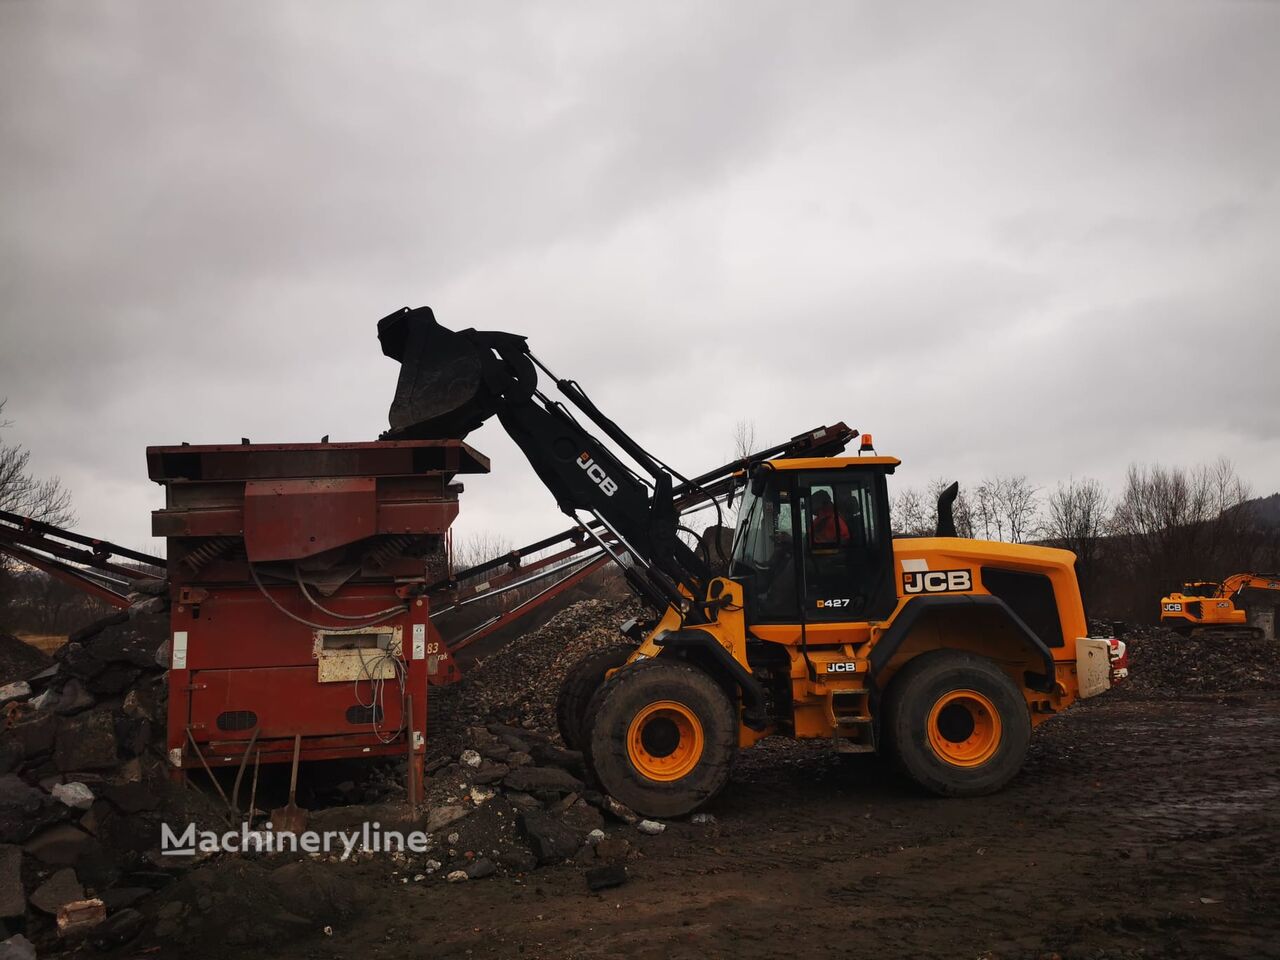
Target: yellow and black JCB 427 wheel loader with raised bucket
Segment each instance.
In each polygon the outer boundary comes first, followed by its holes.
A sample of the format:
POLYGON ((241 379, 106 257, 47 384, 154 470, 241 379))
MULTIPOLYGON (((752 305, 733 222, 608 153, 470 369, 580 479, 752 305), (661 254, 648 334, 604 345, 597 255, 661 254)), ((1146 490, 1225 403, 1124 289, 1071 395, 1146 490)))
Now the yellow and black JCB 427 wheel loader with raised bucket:
POLYGON ((653 608, 630 645, 564 680, 561 733, 637 813, 714 797, 737 751, 771 735, 883 751, 945 796, 998 790, 1032 728, 1111 686, 1124 646, 1088 637, 1074 554, 966 540, 952 485, 932 538, 893 538, 899 466, 837 424, 744 458, 728 570, 680 536, 676 474, 554 378, 522 337, 451 332, 430 308, 379 323, 401 361, 387 439, 458 436, 497 416, 561 509, 653 608), (636 468, 539 388, 539 370, 636 468))

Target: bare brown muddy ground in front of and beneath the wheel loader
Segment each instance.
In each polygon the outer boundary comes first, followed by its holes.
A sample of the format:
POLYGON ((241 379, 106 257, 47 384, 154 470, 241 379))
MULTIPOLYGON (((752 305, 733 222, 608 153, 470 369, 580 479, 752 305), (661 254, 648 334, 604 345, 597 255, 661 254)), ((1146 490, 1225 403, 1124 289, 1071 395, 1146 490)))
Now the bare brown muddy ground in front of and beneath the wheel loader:
POLYGON ((822 749, 742 755, 712 826, 627 832, 630 882, 582 869, 402 884, 280 957, 1280 956, 1280 694, 1115 691, 1042 727, 978 800, 920 796, 822 749))

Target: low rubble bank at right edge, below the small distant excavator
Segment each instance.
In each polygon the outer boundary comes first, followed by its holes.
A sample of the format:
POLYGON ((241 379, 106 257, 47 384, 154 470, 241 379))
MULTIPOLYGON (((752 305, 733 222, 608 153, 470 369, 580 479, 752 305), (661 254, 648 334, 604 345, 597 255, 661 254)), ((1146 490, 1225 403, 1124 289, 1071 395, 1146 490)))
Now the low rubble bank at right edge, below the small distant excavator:
POLYGON ((1280 690, 1280 643, 1266 639, 1192 637, 1144 625, 1117 625, 1129 648, 1134 694, 1230 694, 1280 690))

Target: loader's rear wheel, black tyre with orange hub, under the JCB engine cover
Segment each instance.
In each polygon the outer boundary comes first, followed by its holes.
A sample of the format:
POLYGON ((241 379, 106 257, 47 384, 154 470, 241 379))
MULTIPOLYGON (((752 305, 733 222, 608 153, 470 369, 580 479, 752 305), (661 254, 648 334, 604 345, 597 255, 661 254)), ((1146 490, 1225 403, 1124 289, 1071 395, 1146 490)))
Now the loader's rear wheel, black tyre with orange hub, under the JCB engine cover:
POLYGON ((1021 690, 992 660, 937 650, 893 677, 882 732, 895 767, 919 786, 982 796, 1021 768, 1032 723, 1021 690))

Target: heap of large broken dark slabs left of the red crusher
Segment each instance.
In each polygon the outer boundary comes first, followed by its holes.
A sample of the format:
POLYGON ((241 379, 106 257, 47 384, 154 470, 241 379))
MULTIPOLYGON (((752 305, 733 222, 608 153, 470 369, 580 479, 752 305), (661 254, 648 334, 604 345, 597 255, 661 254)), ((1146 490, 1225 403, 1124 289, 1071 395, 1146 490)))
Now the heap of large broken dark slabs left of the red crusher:
POLYGON ((52 666, 0 689, 0 940, 82 934, 111 948, 142 928, 138 901, 173 881, 160 810, 189 800, 163 760, 166 605, 145 598, 84 627, 52 666))

